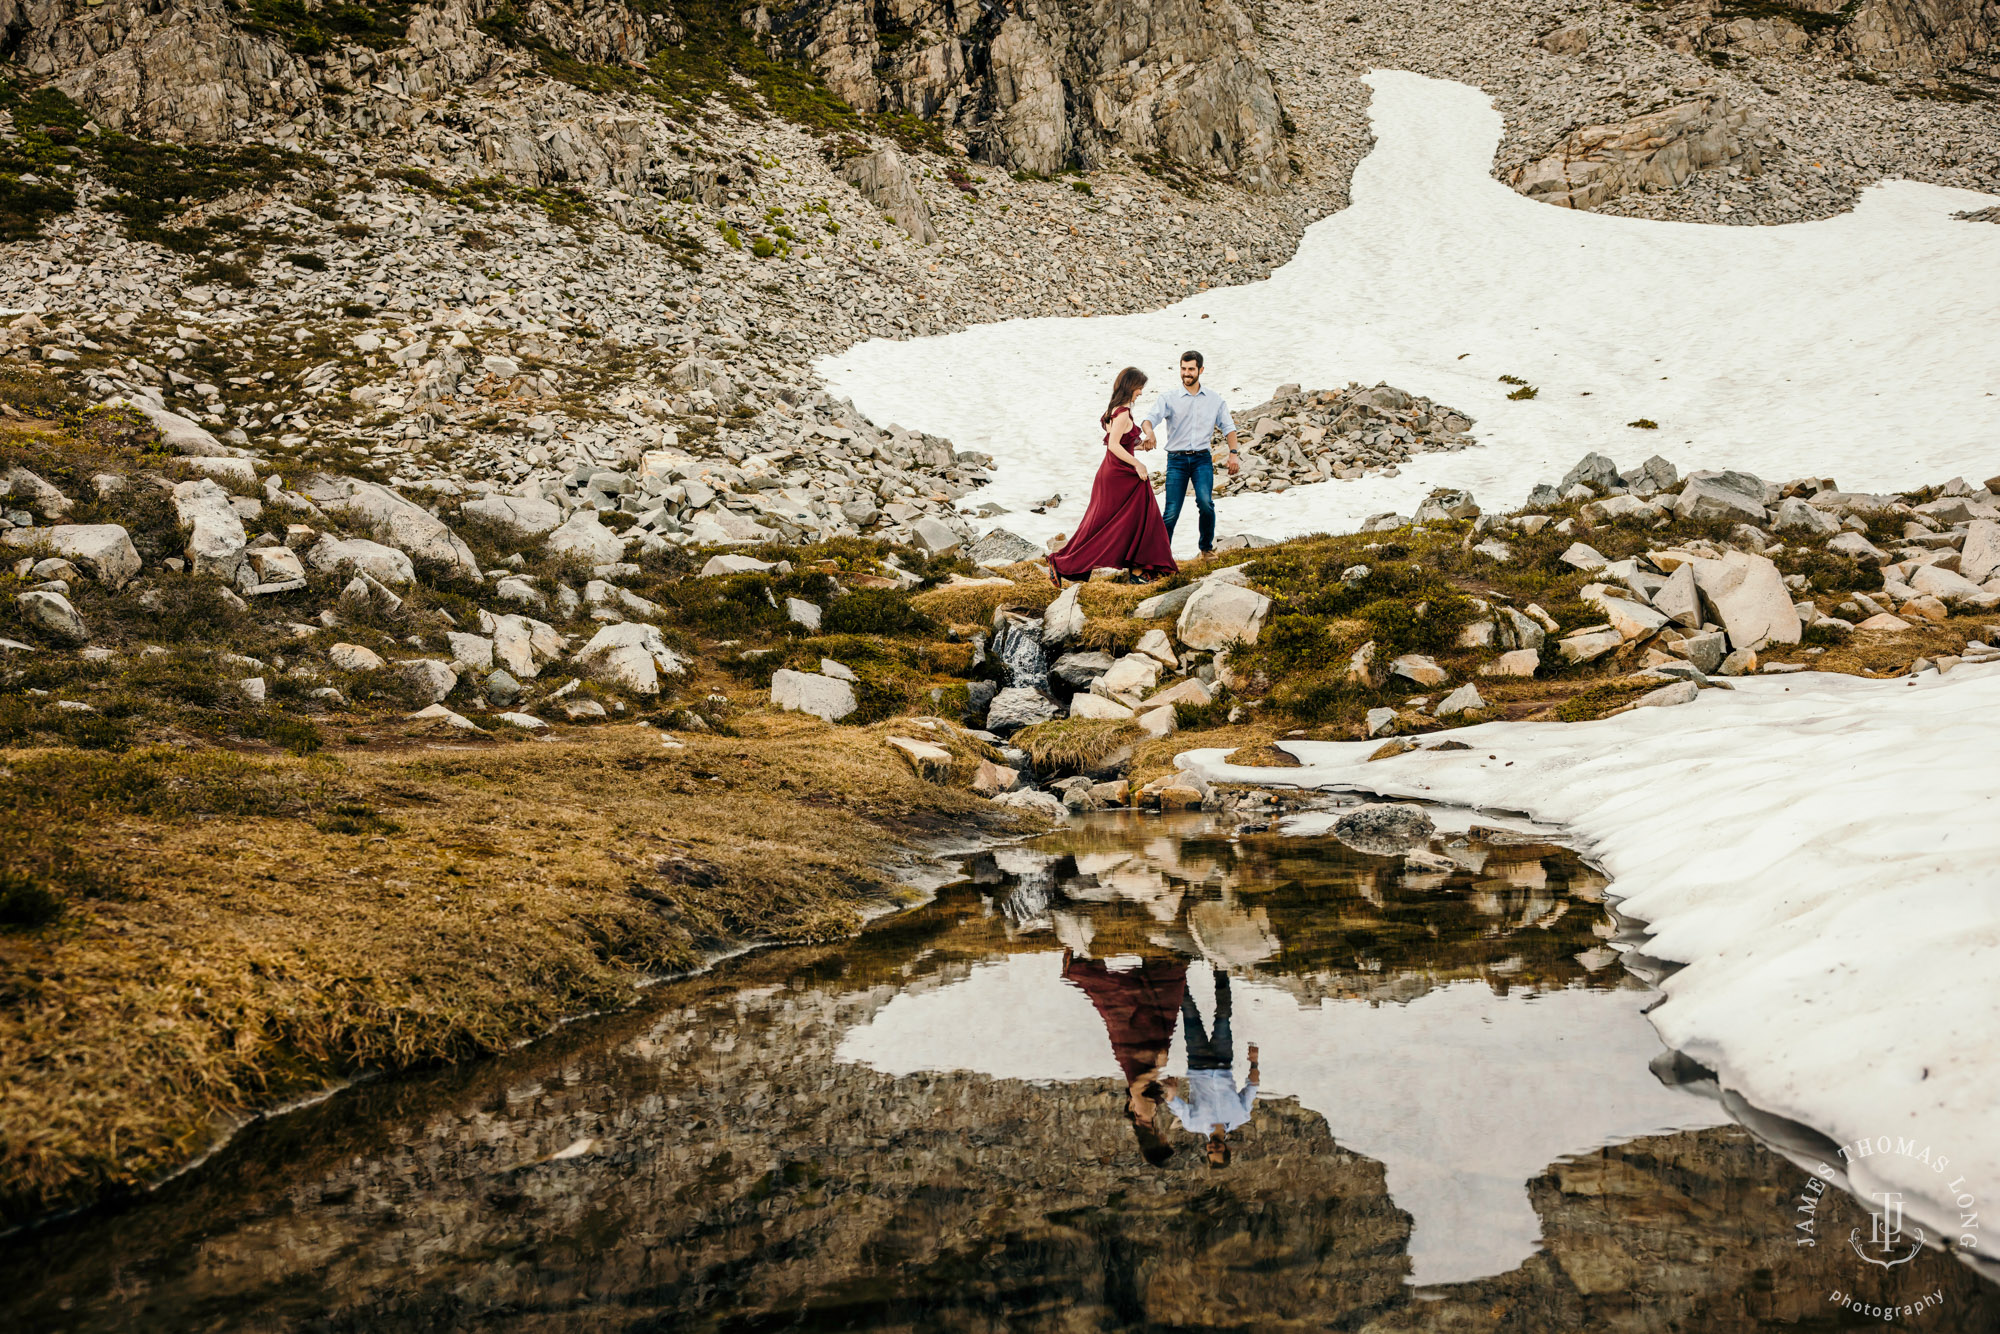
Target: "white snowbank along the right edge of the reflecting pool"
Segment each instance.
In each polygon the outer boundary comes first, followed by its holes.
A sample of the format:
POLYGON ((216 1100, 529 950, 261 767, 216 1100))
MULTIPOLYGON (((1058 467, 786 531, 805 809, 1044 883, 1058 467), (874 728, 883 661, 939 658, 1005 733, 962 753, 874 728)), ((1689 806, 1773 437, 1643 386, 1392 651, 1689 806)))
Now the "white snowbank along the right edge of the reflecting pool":
POLYGON ((1686 964, 1650 1012, 1668 1046, 1840 1144, 1896 1136, 1948 1158, 1848 1164, 1858 1196, 1904 1192, 1932 1236, 1962 1234, 1954 1178, 2000 1198, 2000 668, 1744 680, 1680 708, 1452 738, 1472 750, 1368 762, 1376 742, 1280 742, 1302 768, 1182 762, 1568 826, 1654 930, 1648 952, 1686 964))

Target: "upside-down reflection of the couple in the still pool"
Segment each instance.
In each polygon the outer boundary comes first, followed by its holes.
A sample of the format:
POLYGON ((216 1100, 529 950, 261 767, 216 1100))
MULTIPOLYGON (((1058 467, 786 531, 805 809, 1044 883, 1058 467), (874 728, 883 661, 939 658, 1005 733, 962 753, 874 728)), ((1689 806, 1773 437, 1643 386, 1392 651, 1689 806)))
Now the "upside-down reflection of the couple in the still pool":
POLYGON ((1214 968, 1214 1022, 1188 990, 1188 960, 1142 958, 1134 966, 1112 968, 1104 960, 1062 952, 1062 980, 1076 986, 1112 1040, 1112 1056, 1126 1080, 1126 1122, 1138 1150, 1160 1168, 1176 1152, 1176 1136, 1160 1112, 1178 1122, 1180 1134, 1200 1138, 1210 1168, 1230 1162, 1230 1132, 1250 1122, 1260 1080, 1258 1048, 1248 1046, 1250 1078, 1236 1084, 1236 1042, 1230 1028, 1230 974, 1214 968), (1174 1028, 1182 1030, 1188 1056, 1186 1078, 1166 1072, 1174 1054, 1174 1028))

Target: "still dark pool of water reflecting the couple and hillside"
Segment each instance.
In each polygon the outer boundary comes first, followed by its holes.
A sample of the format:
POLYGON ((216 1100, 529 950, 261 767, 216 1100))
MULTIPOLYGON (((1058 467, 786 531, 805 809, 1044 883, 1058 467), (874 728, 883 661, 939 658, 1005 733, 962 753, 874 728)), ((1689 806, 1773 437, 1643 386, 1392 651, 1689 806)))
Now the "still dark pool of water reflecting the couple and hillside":
MULTIPOLYGON (((1806 1174, 1660 1048, 1604 880, 1536 832, 1444 852, 1092 818, 858 940, 348 1090, 14 1236, 0 1322, 1880 1324, 1828 1304, 1852 1218, 1800 1248, 1806 1174)), ((1940 1292, 1912 1326, 2000 1328, 1948 1256, 1866 1278, 1940 1292)))

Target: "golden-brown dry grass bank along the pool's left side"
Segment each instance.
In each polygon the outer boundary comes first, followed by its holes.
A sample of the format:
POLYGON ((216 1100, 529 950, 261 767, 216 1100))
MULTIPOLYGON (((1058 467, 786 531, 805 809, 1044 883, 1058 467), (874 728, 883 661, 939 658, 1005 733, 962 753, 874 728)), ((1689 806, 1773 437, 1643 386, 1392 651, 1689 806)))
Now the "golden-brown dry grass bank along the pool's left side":
POLYGON ((634 726, 338 762, 0 752, 0 822, 122 886, 0 934, 0 1218, 154 1178, 328 1080, 504 1050, 722 944, 844 936, 902 840, 1010 822, 852 728, 740 726, 686 750, 634 726))

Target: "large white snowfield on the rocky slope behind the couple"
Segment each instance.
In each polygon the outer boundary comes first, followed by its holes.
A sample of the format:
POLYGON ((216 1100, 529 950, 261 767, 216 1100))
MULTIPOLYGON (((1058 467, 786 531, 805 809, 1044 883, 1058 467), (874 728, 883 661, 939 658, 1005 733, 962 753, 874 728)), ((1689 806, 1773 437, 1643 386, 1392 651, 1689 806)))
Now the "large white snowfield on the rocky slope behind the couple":
MULTIPOLYGON (((1570 212, 1490 176, 1486 94, 1404 72, 1368 84, 1376 146, 1352 206, 1268 280, 1148 314, 874 340, 820 374, 880 424, 990 452, 996 480, 974 500, 1008 506, 994 522, 1036 540, 1084 510, 1116 370, 1146 370, 1150 404, 1190 346, 1240 408, 1286 382, 1386 380, 1476 418, 1476 448, 1396 478, 1226 496, 1226 534, 1352 532, 1434 486, 1506 510, 1586 450, 1846 490, 2000 470, 2000 226, 1952 216, 2000 198, 1886 182, 1852 214, 1792 226, 1570 212), (1508 402, 1502 374, 1540 396, 1508 402), (1628 426, 1640 418, 1660 428, 1628 426), (1052 492, 1060 508, 1028 512, 1052 492)), ((1192 548, 1184 522, 1176 550, 1192 548)))

